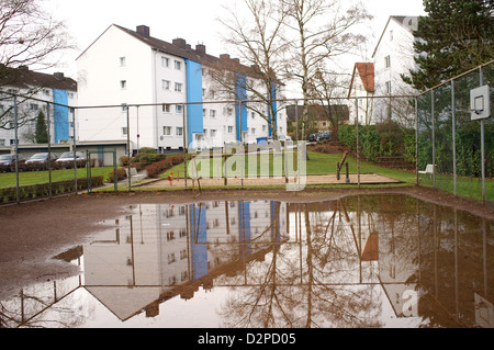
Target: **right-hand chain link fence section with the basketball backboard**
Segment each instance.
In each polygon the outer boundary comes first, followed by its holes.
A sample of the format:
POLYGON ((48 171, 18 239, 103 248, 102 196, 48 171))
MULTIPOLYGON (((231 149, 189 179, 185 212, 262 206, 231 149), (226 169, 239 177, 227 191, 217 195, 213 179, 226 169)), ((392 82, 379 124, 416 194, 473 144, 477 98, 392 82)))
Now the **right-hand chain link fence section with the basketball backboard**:
POLYGON ((494 64, 417 97, 417 182, 460 196, 494 201, 494 122, 472 120, 471 90, 490 86, 494 64))

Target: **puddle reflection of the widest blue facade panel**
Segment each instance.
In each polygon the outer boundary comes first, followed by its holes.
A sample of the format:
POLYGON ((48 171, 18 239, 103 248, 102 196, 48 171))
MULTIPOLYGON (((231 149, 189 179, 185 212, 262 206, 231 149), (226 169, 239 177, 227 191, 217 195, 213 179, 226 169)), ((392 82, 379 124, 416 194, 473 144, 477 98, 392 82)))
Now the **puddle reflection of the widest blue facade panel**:
POLYGON ((190 205, 190 227, 192 228, 192 280, 207 274, 207 228, 206 208, 190 205))

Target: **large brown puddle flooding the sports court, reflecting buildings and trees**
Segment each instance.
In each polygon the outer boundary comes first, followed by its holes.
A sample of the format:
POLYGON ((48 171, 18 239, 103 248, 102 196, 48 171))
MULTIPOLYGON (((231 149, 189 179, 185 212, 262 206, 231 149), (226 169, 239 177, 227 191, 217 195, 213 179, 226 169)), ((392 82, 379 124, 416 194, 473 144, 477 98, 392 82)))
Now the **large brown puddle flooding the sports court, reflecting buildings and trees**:
POLYGON ((494 327, 494 223, 407 195, 134 204, 2 327, 494 327))

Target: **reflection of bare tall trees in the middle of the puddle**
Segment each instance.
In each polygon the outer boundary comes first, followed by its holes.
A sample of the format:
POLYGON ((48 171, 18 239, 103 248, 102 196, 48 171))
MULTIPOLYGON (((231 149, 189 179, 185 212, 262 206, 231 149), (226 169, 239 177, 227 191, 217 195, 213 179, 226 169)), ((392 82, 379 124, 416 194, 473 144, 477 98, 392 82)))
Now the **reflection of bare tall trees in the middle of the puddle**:
MULTIPOLYGON (((378 327, 371 285, 345 285, 358 253, 339 207, 327 218, 299 204, 303 245, 273 245, 263 266, 247 267, 248 281, 220 314, 227 327, 378 327), (302 215, 303 213, 303 215, 302 215), (303 218, 302 218, 303 216, 303 218)), ((277 212, 279 213, 279 211, 277 212)), ((240 282, 240 276, 236 278, 240 282)))

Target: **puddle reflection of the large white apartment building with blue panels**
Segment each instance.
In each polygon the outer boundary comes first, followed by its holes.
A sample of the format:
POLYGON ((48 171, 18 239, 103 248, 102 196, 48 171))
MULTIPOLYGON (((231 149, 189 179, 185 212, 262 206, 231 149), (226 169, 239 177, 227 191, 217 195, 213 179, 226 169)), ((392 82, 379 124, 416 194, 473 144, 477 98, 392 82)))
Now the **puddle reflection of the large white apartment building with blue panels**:
POLYGON ((115 230, 85 248, 86 289, 121 319, 143 308, 156 316, 160 300, 190 298, 228 264, 285 241, 284 213, 285 204, 272 201, 132 207, 115 230))

